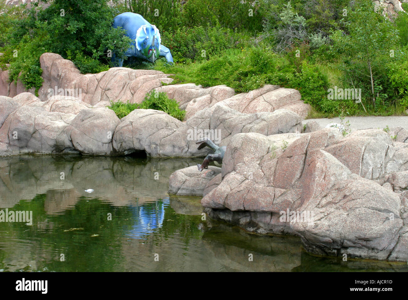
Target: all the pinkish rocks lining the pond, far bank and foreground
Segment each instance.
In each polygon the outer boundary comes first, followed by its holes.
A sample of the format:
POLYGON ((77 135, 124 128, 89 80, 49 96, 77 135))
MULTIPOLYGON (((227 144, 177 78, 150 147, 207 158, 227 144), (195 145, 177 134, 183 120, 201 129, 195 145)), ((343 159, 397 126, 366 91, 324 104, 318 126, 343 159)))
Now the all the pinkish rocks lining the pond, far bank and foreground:
POLYGON ((202 196, 209 217, 248 231, 299 236, 311 253, 408 260, 407 128, 343 136, 310 122, 304 130, 310 106, 294 89, 267 85, 235 95, 226 86, 166 85, 169 74, 152 70, 83 75, 54 53, 40 62, 38 97, 0 73, 0 156, 202 157, 209 150, 195 142, 208 133, 227 147, 222 168, 175 171, 170 194, 202 196), (151 109, 119 119, 106 108, 140 103, 153 90, 177 100, 186 121, 151 109))

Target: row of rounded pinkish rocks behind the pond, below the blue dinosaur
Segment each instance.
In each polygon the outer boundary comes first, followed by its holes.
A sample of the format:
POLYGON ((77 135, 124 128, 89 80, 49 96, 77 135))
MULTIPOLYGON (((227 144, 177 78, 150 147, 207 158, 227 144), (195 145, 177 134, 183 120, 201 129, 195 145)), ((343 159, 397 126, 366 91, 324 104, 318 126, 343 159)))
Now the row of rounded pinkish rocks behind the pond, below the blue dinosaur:
POLYGON ((83 75, 55 53, 44 53, 40 63, 44 82, 38 97, 21 82, 8 82, 8 71, 0 74, 0 156, 135 151, 157 157, 205 156, 208 150, 196 149, 197 133, 216 134, 218 144, 226 145, 237 133, 301 132, 302 117, 310 110, 299 91, 275 85, 234 95, 226 86, 164 85, 173 79, 155 70, 111 68, 83 75), (119 120, 106 108, 110 101, 141 103, 152 90, 177 100, 187 112, 186 121, 144 109, 119 120))

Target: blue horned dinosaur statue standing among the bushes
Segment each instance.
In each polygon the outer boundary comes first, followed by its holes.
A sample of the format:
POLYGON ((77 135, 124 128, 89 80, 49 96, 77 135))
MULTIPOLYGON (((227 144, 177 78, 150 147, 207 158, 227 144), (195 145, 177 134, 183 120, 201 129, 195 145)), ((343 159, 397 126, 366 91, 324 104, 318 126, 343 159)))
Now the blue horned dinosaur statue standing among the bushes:
MULTIPOLYGON (((126 51, 127 57, 136 57, 154 62, 157 57, 164 56, 168 62, 173 62, 169 48, 161 42, 159 29, 147 22, 137 13, 121 13, 113 19, 113 27, 126 30, 126 36, 131 38, 131 47, 126 51)), ((123 59, 118 59, 115 53, 112 62, 117 67, 123 66, 123 59)))

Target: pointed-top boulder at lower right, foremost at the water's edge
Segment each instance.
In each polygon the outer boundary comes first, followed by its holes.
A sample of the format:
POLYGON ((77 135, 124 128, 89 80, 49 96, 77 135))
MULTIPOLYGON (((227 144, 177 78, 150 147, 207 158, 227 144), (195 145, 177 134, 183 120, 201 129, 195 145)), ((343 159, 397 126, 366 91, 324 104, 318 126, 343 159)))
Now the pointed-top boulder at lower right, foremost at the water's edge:
POLYGON ((307 250, 314 253, 386 259, 398 231, 400 199, 361 178, 322 150, 310 151, 302 174, 302 206, 313 222, 293 222, 307 250))

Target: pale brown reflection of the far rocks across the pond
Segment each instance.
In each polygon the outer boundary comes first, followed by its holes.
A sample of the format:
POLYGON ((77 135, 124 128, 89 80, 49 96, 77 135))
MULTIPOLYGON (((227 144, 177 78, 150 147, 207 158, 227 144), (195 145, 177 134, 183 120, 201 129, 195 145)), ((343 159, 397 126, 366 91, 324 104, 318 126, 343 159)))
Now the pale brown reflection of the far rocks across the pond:
POLYGON ((115 206, 133 205, 136 198, 139 203, 164 199, 168 197, 170 174, 194 163, 191 158, 69 155, 0 158, 0 207, 13 207, 21 199, 31 200, 43 193, 47 193, 46 209, 51 214, 73 207, 79 196, 101 198, 115 206), (88 194, 86 189, 95 191, 88 194))

